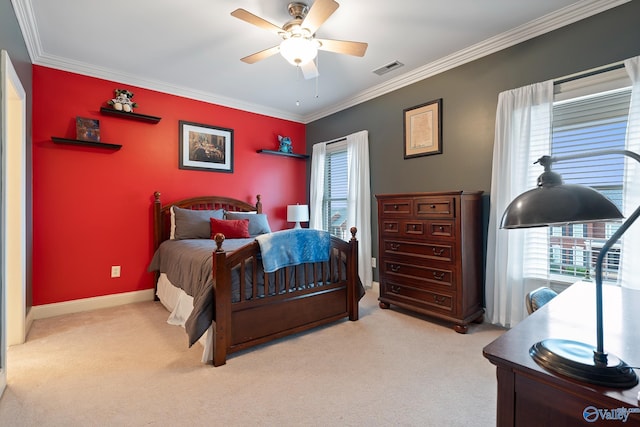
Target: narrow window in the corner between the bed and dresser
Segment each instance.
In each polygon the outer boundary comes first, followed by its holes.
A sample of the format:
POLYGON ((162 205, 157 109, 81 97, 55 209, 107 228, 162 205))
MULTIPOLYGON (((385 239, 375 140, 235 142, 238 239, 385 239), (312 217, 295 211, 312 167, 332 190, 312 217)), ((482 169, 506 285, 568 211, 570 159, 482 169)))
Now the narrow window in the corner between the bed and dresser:
POLYGON ((344 142, 327 145, 322 225, 325 231, 349 240, 347 230, 347 146, 344 142))

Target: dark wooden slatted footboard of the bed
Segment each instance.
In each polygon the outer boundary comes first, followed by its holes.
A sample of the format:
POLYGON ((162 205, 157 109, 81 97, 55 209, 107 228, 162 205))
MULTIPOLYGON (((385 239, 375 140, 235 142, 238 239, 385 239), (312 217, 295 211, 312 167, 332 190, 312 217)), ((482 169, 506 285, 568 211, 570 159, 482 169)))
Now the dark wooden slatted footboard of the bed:
MULTIPOLYGON (((328 262, 286 267, 284 283, 276 283, 279 292, 263 292, 254 288, 246 299, 231 303, 231 271, 240 268, 240 289, 245 289, 247 275, 256 286, 258 271, 256 260, 260 247, 257 242, 227 254, 220 247, 214 256, 215 317, 213 322, 213 365, 225 364, 227 354, 271 341, 296 332, 311 329, 348 317, 358 320, 358 241, 356 228, 351 228, 351 240, 345 242, 331 237, 332 256, 328 262), (300 274, 289 274, 289 269, 302 269, 300 274), (291 280, 289 278, 292 277, 291 280)), ((224 240, 224 237, 220 238, 224 240)), ((222 244, 222 241, 220 241, 222 244)), ((264 274, 264 289, 269 289, 264 274)), ((274 275, 280 276, 278 272, 274 275)))

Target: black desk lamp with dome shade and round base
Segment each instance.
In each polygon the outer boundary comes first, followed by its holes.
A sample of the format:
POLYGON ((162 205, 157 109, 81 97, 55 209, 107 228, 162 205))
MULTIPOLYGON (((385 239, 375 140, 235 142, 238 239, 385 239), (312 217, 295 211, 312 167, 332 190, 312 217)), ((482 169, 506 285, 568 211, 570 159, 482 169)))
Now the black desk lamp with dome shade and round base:
MULTIPOLYGON (((601 150, 587 153, 543 156, 538 162, 544 172, 538 187, 522 193, 507 207, 501 228, 530 228, 550 225, 597 222, 622 219, 620 210, 598 191, 582 185, 563 184, 551 164, 611 154, 629 156, 640 163, 640 155, 628 150, 601 150)), ((640 206, 604 244, 595 268, 596 347, 567 339, 545 339, 529 350, 531 357, 545 369, 605 387, 629 388, 638 384, 633 368, 618 357, 604 351, 602 327, 602 263, 609 249, 640 216, 640 206)))

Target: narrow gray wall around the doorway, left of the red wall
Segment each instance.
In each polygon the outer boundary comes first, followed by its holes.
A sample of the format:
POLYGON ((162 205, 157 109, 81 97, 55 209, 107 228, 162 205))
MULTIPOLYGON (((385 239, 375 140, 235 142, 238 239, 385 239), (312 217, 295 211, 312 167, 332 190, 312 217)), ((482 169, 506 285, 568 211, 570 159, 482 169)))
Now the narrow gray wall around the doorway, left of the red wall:
MULTIPOLYGON (((0 1, 0 49, 6 50, 11 58, 11 63, 20 77, 20 82, 27 93, 27 308, 31 307, 31 283, 32 283, 32 157, 31 157, 31 73, 32 65, 27 46, 22 38, 22 31, 18 25, 18 19, 11 6, 11 2, 0 1)), ((0 125, 1 126, 1 125, 0 125)))

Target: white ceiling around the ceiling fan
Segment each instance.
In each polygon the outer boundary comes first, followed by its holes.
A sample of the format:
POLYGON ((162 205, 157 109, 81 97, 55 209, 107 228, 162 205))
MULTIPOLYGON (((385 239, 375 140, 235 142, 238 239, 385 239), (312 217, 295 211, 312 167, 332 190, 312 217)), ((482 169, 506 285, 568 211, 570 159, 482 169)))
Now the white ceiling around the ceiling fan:
POLYGON ((281 26, 289 0, 12 3, 34 64, 308 123, 627 1, 338 0, 317 37, 369 47, 320 52, 317 81, 280 55, 240 61, 280 39, 230 13, 281 26), (404 67, 373 73, 396 60, 404 67))

